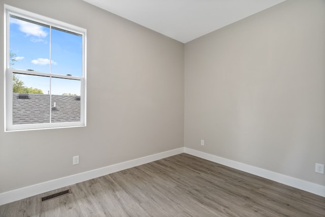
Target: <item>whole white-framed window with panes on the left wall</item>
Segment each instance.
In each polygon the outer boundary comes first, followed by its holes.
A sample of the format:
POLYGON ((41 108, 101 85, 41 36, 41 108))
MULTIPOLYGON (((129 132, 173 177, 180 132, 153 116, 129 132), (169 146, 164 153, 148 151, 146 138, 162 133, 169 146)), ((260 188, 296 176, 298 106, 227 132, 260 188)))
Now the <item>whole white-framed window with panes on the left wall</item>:
POLYGON ((86 30, 5 6, 6 131, 86 125, 86 30))

